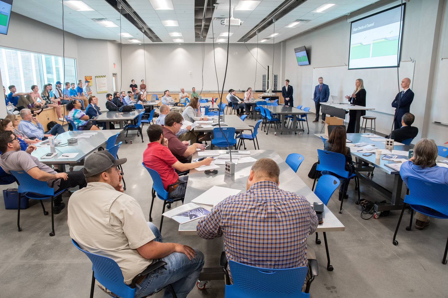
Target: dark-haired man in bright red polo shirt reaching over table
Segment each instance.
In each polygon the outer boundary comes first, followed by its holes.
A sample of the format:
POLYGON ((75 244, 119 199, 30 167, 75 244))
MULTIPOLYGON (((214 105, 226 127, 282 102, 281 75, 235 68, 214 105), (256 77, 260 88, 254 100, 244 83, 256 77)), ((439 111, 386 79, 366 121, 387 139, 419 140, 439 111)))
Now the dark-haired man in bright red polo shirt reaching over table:
MULTIPOLYGON (((159 173, 160 178, 167 189, 168 185, 177 182, 178 180, 188 180, 188 176, 179 178, 176 170, 185 172, 202 165, 209 165, 213 160, 212 157, 207 157, 194 164, 183 164, 177 160, 171 151, 168 149, 168 139, 164 138, 163 128, 160 125, 153 124, 146 130, 149 141, 145 151, 143 152, 143 163, 146 167, 151 168, 159 173)), ((185 196, 186 183, 170 186, 167 189, 169 198, 180 198, 185 196)))

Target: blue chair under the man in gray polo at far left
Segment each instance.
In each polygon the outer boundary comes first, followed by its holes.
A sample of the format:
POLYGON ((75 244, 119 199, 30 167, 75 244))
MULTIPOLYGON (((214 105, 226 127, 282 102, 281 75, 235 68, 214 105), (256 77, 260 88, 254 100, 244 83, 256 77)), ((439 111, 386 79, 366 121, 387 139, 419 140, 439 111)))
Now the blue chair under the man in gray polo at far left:
POLYGON ((16 178, 18 185, 18 205, 17 205, 17 231, 22 231, 20 227, 20 201, 22 197, 28 197, 34 200, 40 200, 40 205, 43 209, 43 215, 48 215, 48 211, 45 211, 42 200, 51 198, 50 204, 52 207, 52 231, 50 236, 55 235, 55 224, 53 216, 53 199, 65 192, 67 189, 59 189, 57 193, 54 192, 53 185, 58 179, 53 180, 52 187, 48 187, 47 181, 39 181, 28 175, 25 171, 9 171, 14 178, 16 178))

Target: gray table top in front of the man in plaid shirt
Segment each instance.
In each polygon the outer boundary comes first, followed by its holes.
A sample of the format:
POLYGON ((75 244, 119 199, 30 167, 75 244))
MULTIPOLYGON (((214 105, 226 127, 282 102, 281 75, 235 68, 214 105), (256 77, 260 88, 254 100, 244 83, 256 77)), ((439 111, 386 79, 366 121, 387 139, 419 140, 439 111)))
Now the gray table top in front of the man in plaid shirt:
MULTIPOLYGON (((218 150, 220 153, 225 153, 225 150, 218 150)), ((313 202, 321 202, 319 198, 306 186, 305 182, 289 168, 288 164, 273 150, 250 150, 250 155, 255 159, 262 157, 268 157, 274 159, 280 167, 280 188, 301 194, 306 197, 312 204, 313 202)), ((193 155, 193 159, 198 158, 198 153, 193 155)), ((219 165, 218 174, 216 176, 206 176, 204 172, 198 172, 193 169, 190 170, 190 176, 188 178, 187 189, 185 193, 184 204, 190 203, 194 198, 198 197, 202 193, 206 192, 213 185, 228 187, 233 189, 246 190, 246 181, 250 173, 250 168, 254 162, 237 164, 235 166, 235 174, 230 175, 224 172, 224 165, 219 165)), ((201 204, 199 204, 201 205, 201 204)), ((211 209, 210 206, 202 205, 207 209, 211 209)), ((197 235, 196 225, 198 220, 187 222, 179 225, 180 235, 197 235)), ((327 208, 324 207, 323 212, 323 224, 320 224, 317 228, 319 232, 329 231, 344 231, 344 225, 336 218, 336 216, 327 208)))

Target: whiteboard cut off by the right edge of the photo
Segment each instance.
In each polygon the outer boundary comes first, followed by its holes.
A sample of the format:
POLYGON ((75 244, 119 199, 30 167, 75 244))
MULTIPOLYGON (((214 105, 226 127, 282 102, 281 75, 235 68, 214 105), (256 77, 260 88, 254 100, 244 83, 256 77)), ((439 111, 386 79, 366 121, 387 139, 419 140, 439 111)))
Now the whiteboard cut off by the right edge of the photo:
POLYGON ((448 59, 441 59, 435 88, 432 121, 448 125, 448 59))

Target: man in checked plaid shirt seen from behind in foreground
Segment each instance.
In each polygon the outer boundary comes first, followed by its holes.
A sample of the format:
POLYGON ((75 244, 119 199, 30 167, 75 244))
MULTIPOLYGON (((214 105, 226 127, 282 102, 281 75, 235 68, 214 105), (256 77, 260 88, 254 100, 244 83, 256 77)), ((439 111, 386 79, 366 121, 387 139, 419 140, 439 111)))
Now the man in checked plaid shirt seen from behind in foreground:
MULTIPOLYGON (((278 187, 279 175, 274 160, 258 159, 247 191, 225 198, 201 218, 198 235, 224 236, 227 260, 273 269, 306 266, 306 238, 318 219, 305 197, 278 187)), ((314 258, 312 249, 308 257, 314 258)))

